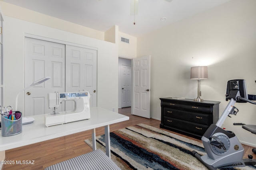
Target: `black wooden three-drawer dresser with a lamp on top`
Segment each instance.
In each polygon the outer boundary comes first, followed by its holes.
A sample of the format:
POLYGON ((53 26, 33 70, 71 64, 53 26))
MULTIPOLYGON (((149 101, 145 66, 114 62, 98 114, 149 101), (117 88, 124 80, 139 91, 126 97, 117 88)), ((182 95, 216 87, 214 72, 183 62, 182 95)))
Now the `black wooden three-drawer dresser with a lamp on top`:
POLYGON ((220 102, 197 102, 193 99, 160 98, 160 128, 177 131, 200 139, 212 123, 219 119, 220 102))

